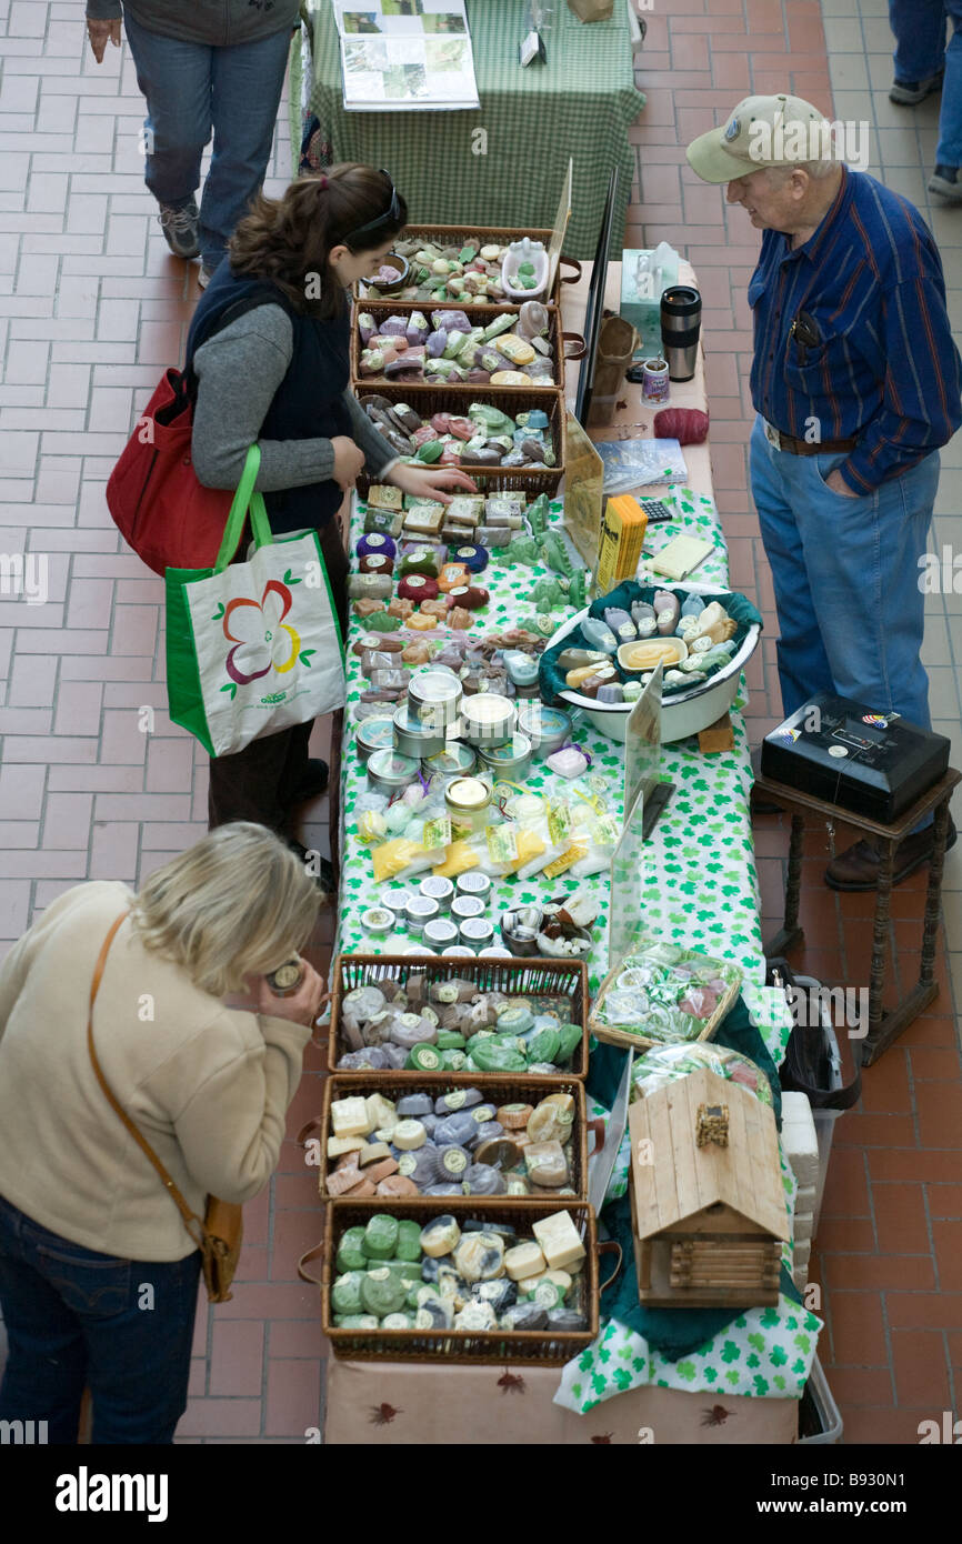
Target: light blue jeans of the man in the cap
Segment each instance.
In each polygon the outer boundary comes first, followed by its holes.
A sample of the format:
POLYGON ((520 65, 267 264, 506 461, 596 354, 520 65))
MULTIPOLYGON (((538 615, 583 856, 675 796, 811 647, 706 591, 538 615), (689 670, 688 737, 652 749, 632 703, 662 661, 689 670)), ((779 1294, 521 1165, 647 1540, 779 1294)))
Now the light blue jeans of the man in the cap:
POLYGON ((939 452, 855 499, 825 483, 843 460, 777 451, 755 422, 752 497, 775 585, 781 703, 788 716, 835 692, 928 729, 919 557, 939 452))

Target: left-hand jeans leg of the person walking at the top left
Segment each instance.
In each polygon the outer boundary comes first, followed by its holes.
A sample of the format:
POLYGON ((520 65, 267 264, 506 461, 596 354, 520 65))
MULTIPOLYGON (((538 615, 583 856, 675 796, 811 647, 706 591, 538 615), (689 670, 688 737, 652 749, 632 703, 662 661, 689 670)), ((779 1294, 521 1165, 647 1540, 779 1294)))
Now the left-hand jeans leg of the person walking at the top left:
POLYGON ((210 71, 216 49, 150 32, 130 11, 124 26, 137 85, 147 99, 144 181, 161 205, 170 250, 179 258, 196 258, 201 249, 195 193, 210 139, 210 71))

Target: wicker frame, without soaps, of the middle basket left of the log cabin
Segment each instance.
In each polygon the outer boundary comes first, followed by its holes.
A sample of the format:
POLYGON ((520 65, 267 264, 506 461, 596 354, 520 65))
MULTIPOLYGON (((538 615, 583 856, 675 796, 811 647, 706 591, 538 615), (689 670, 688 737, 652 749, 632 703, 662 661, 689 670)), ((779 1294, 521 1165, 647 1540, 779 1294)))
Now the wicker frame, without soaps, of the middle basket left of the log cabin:
MULTIPOLYGON (((474 1089, 483 1087, 485 1104, 537 1104, 539 1099, 545 1099, 550 1093, 570 1093, 574 1099, 574 1126, 571 1127, 571 1177, 568 1189, 574 1190, 574 1195, 557 1197, 557 1207, 567 1206, 568 1201, 585 1201, 588 1198, 588 1158, 594 1156, 596 1152, 604 1146, 604 1121, 594 1119, 588 1121, 585 1110, 585 1090, 584 1085, 576 1078, 525 1078, 522 1073, 514 1073, 505 1076, 489 1075, 491 1081, 485 1084, 474 1084, 465 1073, 425 1073, 422 1076, 418 1092, 423 1090, 437 1099, 442 1093, 451 1093, 454 1089, 474 1089), (588 1153, 588 1132, 591 1133, 591 1152, 588 1153)), ((298 1132, 298 1143, 303 1143, 312 1130, 320 1130, 321 1141, 321 1163, 320 1163, 320 1194, 321 1200, 327 1201, 330 1197, 326 1189, 326 1178, 329 1170, 334 1169, 334 1161, 327 1158, 327 1138, 334 1136, 334 1129, 330 1124, 330 1106, 335 1099, 358 1098, 368 1093, 380 1093, 386 1099, 401 1099, 406 1093, 412 1092, 412 1081, 409 1073, 388 1076, 388 1073, 372 1073, 371 1082, 364 1082, 357 1073, 343 1075, 335 1073, 332 1078, 324 1079, 324 1109, 320 1121, 310 1121, 303 1130, 298 1132)), ((346 1200, 352 1200, 346 1197, 346 1200)), ((414 1201, 415 1197, 411 1197, 414 1201)), ((425 1197, 426 1201, 448 1201, 448 1204, 460 1204, 457 1195, 439 1195, 425 1197)), ((471 1204, 474 1201, 517 1201, 519 1206, 530 1206, 531 1203, 550 1201, 547 1195, 511 1195, 511 1197, 466 1197, 471 1204)), ((377 1201, 375 1209, 384 1209, 384 1206, 392 1206, 394 1201, 389 1197, 372 1197, 366 1198, 366 1204, 371 1206, 377 1201)), ((357 1204, 361 1204, 360 1201, 357 1204)))

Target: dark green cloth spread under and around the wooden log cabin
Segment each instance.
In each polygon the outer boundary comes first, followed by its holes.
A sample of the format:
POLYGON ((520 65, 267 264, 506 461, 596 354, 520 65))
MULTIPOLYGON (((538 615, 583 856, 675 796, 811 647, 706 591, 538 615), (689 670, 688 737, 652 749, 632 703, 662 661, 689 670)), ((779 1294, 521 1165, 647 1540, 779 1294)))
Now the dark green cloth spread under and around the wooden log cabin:
MULTIPOLYGON (((772 1104, 775 1122, 781 1130, 781 1084, 772 1056, 749 1017, 744 997, 738 997, 732 1011, 723 1019, 718 1031, 712 1038, 713 1045, 727 1045, 743 1056, 749 1056, 764 1072, 772 1085, 772 1104)), ((588 1062, 587 1092, 591 1099, 598 1099, 611 1109, 618 1093, 618 1084, 624 1070, 625 1051, 619 1045, 596 1045, 588 1062)), ((730 1308, 642 1308, 638 1302, 638 1272, 635 1269, 635 1243, 632 1234, 632 1203, 627 1195, 618 1201, 610 1201, 602 1209, 601 1220, 610 1238, 621 1244, 622 1268, 618 1278, 602 1299, 604 1317, 618 1319, 628 1325, 636 1334, 644 1336, 649 1345, 659 1351, 669 1362, 690 1356, 707 1340, 738 1319, 738 1312, 730 1308)), ((792 1303, 801 1303, 801 1297, 791 1275, 781 1266, 781 1291, 792 1303)))

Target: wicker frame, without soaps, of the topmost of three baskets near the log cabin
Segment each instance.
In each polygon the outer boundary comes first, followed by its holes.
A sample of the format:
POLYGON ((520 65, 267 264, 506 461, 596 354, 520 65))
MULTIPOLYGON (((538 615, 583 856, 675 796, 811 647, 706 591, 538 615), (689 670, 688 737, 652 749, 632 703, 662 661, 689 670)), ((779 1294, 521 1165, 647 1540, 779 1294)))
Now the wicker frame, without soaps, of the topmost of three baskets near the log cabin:
MULTIPOLYGON (((337 1065, 338 1058, 351 1050, 341 1033, 341 1005, 347 993, 354 991, 355 987, 377 987, 380 980, 395 980, 403 987, 414 976, 420 976, 428 987, 440 980, 477 980, 479 991, 503 991, 510 997, 567 999, 571 1024, 582 1027, 581 1047, 567 1067, 544 1076, 534 1073, 533 1081, 550 1093, 551 1089, 557 1090, 559 1078, 582 1082, 588 1073, 588 970, 584 960, 482 960, 477 957, 468 960, 418 954, 338 954, 330 976, 334 985, 327 1065, 332 1073, 354 1087, 360 1082, 369 1082, 372 1090, 381 1090, 386 1081, 391 1081, 411 1092, 418 1087, 418 1079, 439 1076, 439 1073, 394 1072, 389 1068, 351 1072, 337 1065)), ((503 1084, 506 1079, 514 1084, 516 1079, 525 1078, 525 1073, 473 1072, 459 1073, 457 1078, 448 1073, 448 1078, 452 1084, 457 1081, 463 1087, 476 1085, 483 1090, 488 1084, 503 1084)))

